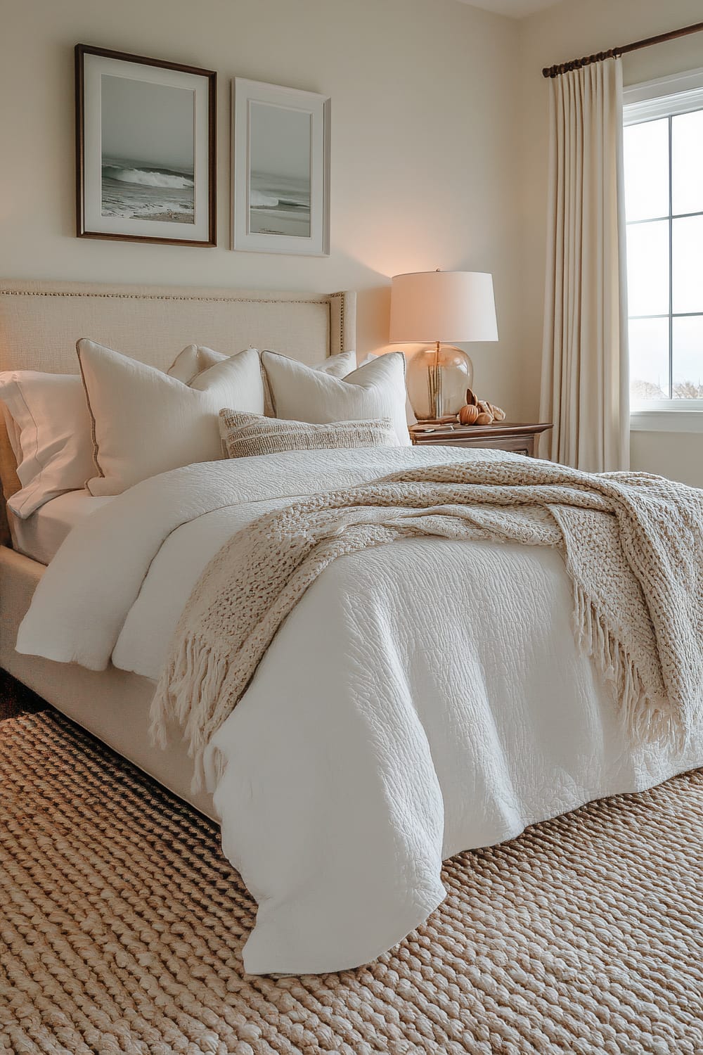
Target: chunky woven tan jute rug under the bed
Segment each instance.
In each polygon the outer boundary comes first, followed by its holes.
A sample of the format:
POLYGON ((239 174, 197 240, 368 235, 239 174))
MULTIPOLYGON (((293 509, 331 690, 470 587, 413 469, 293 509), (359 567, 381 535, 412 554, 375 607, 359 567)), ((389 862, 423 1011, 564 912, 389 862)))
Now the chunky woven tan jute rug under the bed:
POLYGON ((214 825, 52 712, 0 754, 2 1052, 703 1053, 703 772, 458 855, 369 966, 270 979, 214 825))

